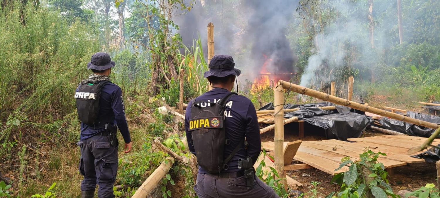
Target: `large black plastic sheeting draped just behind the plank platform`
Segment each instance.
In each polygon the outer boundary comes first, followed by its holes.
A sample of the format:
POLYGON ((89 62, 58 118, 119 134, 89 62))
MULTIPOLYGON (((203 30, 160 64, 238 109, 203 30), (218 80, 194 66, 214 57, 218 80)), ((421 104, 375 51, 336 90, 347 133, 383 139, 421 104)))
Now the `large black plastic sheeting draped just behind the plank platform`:
MULTIPOLYGON (((323 128, 327 138, 347 140, 348 138, 357 138, 363 130, 373 122, 373 118, 364 114, 352 112, 349 107, 336 106, 336 110, 322 110, 318 107, 333 106, 333 103, 317 104, 286 104, 286 109, 300 108, 300 110, 284 114, 285 118, 298 117, 299 120, 308 124, 323 128)), ((260 110, 273 110, 272 103, 268 103, 260 110)), ((363 112, 362 112, 363 113, 363 112)))

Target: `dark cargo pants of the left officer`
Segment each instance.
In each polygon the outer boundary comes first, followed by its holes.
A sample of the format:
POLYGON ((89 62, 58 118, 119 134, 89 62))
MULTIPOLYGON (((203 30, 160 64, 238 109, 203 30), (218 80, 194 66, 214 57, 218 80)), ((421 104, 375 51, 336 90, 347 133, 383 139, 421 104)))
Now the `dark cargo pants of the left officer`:
POLYGON ((81 158, 79 170, 84 180, 81 191, 95 191, 98 184, 99 198, 113 198, 113 184, 117 173, 117 144, 110 145, 109 136, 100 134, 80 140, 81 158))

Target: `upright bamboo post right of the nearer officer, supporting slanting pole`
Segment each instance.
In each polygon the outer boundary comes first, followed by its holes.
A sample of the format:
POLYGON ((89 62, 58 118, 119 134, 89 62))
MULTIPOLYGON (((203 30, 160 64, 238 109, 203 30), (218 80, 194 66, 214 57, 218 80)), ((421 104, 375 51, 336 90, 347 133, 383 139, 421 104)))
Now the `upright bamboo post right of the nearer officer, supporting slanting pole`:
POLYGON ((275 106, 275 169, 287 188, 286 172, 284 172, 284 96, 283 88, 277 84, 274 93, 274 106, 275 106))

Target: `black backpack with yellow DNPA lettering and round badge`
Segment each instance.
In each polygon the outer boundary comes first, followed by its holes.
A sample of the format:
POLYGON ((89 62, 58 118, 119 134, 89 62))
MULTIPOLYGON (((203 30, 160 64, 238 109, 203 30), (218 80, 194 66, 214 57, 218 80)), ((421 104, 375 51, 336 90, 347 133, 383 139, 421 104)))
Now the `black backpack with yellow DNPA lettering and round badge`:
POLYGON ((232 153, 223 159, 224 146, 230 142, 225 134, 224 108, 227 100, 234 94, 236 93, 227 93, 217 103, 193 101, 191 106, 188 131, 191 131, 198 164, 209 173, 226 170, 227 162, 234 157, 242 144, 239 143, 232 153))

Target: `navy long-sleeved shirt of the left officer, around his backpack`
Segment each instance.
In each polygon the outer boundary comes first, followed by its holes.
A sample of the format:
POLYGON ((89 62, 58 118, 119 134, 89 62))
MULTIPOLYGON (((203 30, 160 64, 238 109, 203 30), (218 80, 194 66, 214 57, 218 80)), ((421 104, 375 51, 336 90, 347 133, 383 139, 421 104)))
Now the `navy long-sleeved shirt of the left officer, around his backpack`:
MULTIPOLYGON (((78 88, 77 88, 78 91, 78 88)), ((121 131, 125 143, 130 143, 130 132, 128 132, 127 120, 125 119, 124 99, 122 98, 122 90, 113 83, 107 83, 101 89, 101 97, 99 98, 99 123, 100 126, 88 126, 81 122, 81 140, 95 136, 99 132, 106 130, 105 123, 110 122, 117 125, 121 131)))

